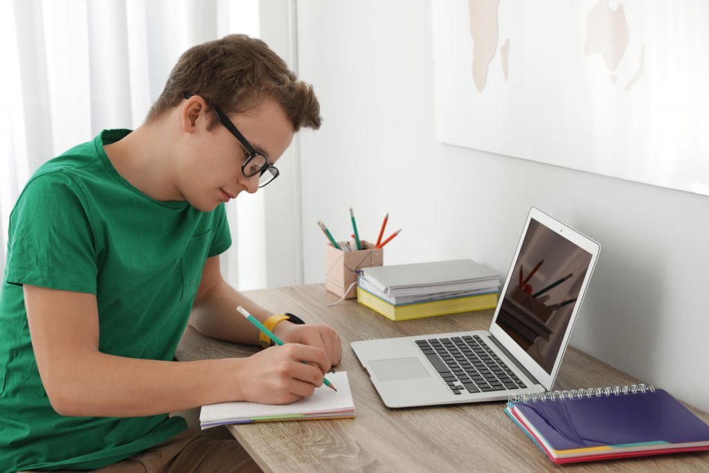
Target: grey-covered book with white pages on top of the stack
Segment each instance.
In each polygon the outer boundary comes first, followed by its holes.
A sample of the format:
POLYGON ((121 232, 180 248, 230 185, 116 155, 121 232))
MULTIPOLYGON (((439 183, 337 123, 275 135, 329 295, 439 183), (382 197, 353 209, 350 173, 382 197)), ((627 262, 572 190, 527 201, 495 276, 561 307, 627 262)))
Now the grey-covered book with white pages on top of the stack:
POLYGON ((390 296, 473 291, 500 284, 500 276, 473 260, 435 261, 362 269, 368 282, 390 296))

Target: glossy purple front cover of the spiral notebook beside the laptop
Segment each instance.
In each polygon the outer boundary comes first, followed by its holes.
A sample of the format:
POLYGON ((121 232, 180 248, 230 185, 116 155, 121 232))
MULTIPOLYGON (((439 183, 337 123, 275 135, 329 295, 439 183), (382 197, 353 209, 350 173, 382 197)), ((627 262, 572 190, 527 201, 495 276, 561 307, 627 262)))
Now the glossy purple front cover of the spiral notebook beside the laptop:
POLYGON ((708 442, 709 425, 663 391, 515 402, 554 450, 708 442))

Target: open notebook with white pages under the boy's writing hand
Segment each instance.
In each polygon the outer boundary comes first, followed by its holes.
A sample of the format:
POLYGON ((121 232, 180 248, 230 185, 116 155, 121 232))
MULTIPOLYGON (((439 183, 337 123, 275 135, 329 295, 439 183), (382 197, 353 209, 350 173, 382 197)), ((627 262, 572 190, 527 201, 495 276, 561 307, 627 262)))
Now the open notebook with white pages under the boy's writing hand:
POLYGON ((223 402, 202 406, 199 423, 203 429, 232 423, 274 421, 310 421, 354 417, 354 401, 347 372, 328 373, 328 380, 337 391, 328 386, 316 388, 312 396, 293 404, 258 404, 255 402, 223 402))

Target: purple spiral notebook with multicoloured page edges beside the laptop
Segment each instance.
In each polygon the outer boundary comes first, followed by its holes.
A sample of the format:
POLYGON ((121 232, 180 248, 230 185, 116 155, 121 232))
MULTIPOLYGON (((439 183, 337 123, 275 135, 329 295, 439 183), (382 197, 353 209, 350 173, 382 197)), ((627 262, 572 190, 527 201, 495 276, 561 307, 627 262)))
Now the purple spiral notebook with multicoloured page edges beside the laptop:
POLYGON ((505 413, 554 463, 709 450, 709 425, 646 384, 519 396, 505 413))

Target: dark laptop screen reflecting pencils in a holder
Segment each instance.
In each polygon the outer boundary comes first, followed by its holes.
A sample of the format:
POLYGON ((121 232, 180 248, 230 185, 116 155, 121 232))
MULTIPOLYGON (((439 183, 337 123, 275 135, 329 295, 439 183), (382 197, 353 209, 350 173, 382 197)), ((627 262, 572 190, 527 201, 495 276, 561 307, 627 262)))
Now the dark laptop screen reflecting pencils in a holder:
POLYGON ((530 220, 496 323, 549 374, 590 262, 591 253, 530 220))

